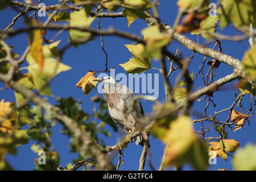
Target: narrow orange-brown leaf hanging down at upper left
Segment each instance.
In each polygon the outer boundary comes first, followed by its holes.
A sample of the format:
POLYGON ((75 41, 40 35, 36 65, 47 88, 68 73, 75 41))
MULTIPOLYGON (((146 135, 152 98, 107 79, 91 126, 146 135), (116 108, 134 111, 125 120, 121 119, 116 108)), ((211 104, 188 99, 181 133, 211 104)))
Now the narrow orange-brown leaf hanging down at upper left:
POLYGON ((44 56, 43 56, 43 36, 42 36, 42 30, 40 29, 36 29, 32 31, 30 53, 33 59, 39 65, 40 71, 42 71, 44 67, 44 56))

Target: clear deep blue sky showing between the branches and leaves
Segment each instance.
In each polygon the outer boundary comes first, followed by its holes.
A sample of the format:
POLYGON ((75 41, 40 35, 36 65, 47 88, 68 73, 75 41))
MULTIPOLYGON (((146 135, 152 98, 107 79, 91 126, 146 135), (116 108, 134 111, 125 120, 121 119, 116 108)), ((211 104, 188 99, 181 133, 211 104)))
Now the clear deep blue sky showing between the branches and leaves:
MULTIPOLYGON (((44 0, 44 3, 46 5, 54 5, 55 3, 58 3, 58 1, 50 1, 50 0, 44 0)), ((214 1, 212 1, 214 2, 214 1)), ((177 6, 174 1, 160 1, 159 5, 159 12, 160 12, 160 19, 163 23, 167 23, 169 25, 172 25, 174 23, 176 14, 177 14, 177 6)), ((11 20, 17 13, 11 9, 8 8, 6 10, 0 11, 0 28, 5 28, 8 24, 10 24, 11 20)), ((45 19, 40 19, 41 22, 43 22, 45 19)), ((13 28, 23 27, 24 26, 24 19, 20 18, 15 23, 15 26, 13 28)), ((94 20, 92 27, 97 28, 97 20, 94 20)), ((102 18, 101 19, 101 28, 108 28, 108 27, 114 27, 117 30, 127 31, 127 32, 133 32, 134 34, 141 35, 141 30, 145 27, 147 27, 147 24, 143 20, 135 20, 133 24, 129 28, 127 28, 127 22, 125 18, 102 18)), ((224 28, 224 30, 220 30, 217 28, 218 31, 220 31, 222 34, 226 35, 237 35, 240 34, 240 32, 234 30, 232 25, 230 25, 227 28, 224 28)), ((53 35, 55 35, 56 32, 47 32, 47 38, 51 39, 53 35)), ((189 35, 188 38, 196 41, 197 37, 196 35, 189 35)), ((65 44, 68 41, 68 32, 63 32, 60 36, 56 38, 56 40, 61 39, 60 47, 65 46, 65 44)), ((118 64, 125 63, 129 60, 131 57, 130 52, 127 50, 124 44, 131 44, 132 42, 130 40, 117 38, 114 36, 104 37, 104 44, 105 49, 108 52, 109 55, 109 68, 114 67, 116 73, 125 73, 125 70, 120 67, 118 64)), ((204 44, 205 39, 200 38, 200 43, 204 44)), ((27 35, 26 34, 20 34, 18 36, 14 36, 13 38, 7 39, 7 43, 9 45, 14 46, 14 52, 21 55, 24 49, 26 48, 28 44, 27 35)), ((209 47, 213 47, 213 43, 209 45, 209 47)), ((180 49, 182 52, 183 57, 189 57, 192 54, 192 51, 188 50, 187 48, 181 46, 176 41, 171 43, 171 46, 168 48, 171 52, 175 53, 176 49, 180 49)), ((242 60, 244 52, 249 49, 249 43, 247 40, 243 40, 241 42, 231 42, 231 41, 223 41, 222 42, 222 49, 223 52, 227 55, 236 57, 239 60, 242 60)), ((203 60, 204 56, 201 56, 199 54, 195 54, 194 58, 191 60, 191 64, 189 65, 189 72, 196 73, 199 71, 198 67, 200 67, 201 62, 203 60)), ((210 59, 207 59, 208 61, 210 59)), ((94 96, 97 93, 96 89, 93 89, 92 92, 88 96, 84 96, 84 93, 82 93, 82 90, 80 88, 76 88, 75 84, 77 81, 80 80, 82 76, 85 75, 85 73, 89 70, 92 71, 100 71, 105 69, 105 55, 104 52, 101 51, 101 42, 100 38, 97 37, 93 41, 79 46, 78 48, 71 47, 68 49, 67 52, 65 52, 63 56, 63 63, 69 65, 72 67, 70 71, 60 73, 60 75, 57 75, 55 80, 51 84, 52 93, 55 96, 59 97, 65 97, 72 96, 73 98, 76 98, 78 100, 82 100, 82 109, 87 113, 92 113, 93 104, 90 101, 90 97, 94 96)), ((23 67, 26 67, 26 63, 22 65, 23 67)), ((160 68, 159 61, 152 61, 152 67, 160 68)), ((209 68, 209 65, 206 65, 206 68, 209 68)), ((217 80, 217 78, 223 77, 225 75, 228 75, 232 73, 233 70, 228 65, 225 65, 223 63, 220 64, 220 68, 214 70, 214 73, 216 73, 216 77, 214 80, 217 80)), ((158 71, 154 69, 150 69, 146 71, 146 73, 158 73, 158 71)), ((175 81, 176 72, 170 77, 170 81, 174 83, 175 81)), ((232 89, 232 86, 236 81, 233 81, 227 86, 222 87, 222 89, 219 92, 214 93, 214 101, 217 104, 216 108, 214 109, 212 105, 210 105, 208 109, 207 114, 214 114, 214 110, 222 110, 226 107, 229 107, 233 103, 233 96, 234 93, 236 93, 236 90, 232 89)), ((2 87, 2 82, 0 83, 0 86, 2 87)), ((196 79, 195 84, 193 85, 193 90, 197 90, 199 88, 202 88, 204 86, 203 81, 201 80, 200 76, 198 79, 196 79)), ((2 98, 5 99, 5 101, 11 101, 14 102, 14 92, 11 89, 5 89, 0 92, 0 100, 2 98)), ((103 97, 103 96, 102 96, 103 97)), ((48 97, 48 101, 52 104, 55 104, 55 99, 52 97, 48 97)), ((159 101, 164 101, 164 89, 163 89, 163 82, 162 78, 160 77, 159 81, 159 101)), ((205 108, 204 102, 197 102, 195 101, 195 105, 193 106, 193 110, 200 111, 203 113, 203 110, 205 108)), ((150 114, 152 112, 152 103, 148 101, 142 101, 142 105, 144 108, 144 112, 146 114, 150 114)), ((245 108, 245 111, 249 109, 249 96, 246 96, 243 99, 243 106, 245 108)), ((236 108, 236 110, 240 111, 240 109, 236 108)), ((193 118, 196 118, 192 115, 193 118)), ((226 114, 221 114, 218 119, 220 121, 224 120, 226 118, 226 114)), ((210 129, 210 135, 216 135, 214 131, 214 126, 210 122, 205 123, 205 127, 210 129)), ((240 142, 241 146, 243 147, 247 142, 251 142, 253 144, 256 143, 255 139, 255 127, 256 123, 254 119, 250 119, 250 126, 245 124, 242 130, 238 130, 236 132, 229 132, 229 139, 237 139, 238 142, 240 142)), ((110 127, 107 128, 112 132, 112 129, 110 127)), ((195 125, 195 129, 200 131, 200 125, 195 125)), ((69 162, 72 162, 72 159, 76 158, 77 154, 70 154, 68 145, 69 145, 69 138, 65 137, 64 135, 60 134, 61 126, 57 124, 53 127, 53 134, 52 134, 52 143, 57 152, 59 152, 60 160, 61 160, 61 166, 65 166, 69 162)), ((104 136, 100 136, 101 138, 105 139, 105 143, 107 145, 113 145, 117 142, 119 135, 112 132, 112 135, 109 138, 106 138, 104 136)), ((18 170, 31 170, 34 168, 34 159, 37 157, 37 155, 31 151, 30 146, 35 142, 31 141, 28 144, 25 144, 23 146, 18 147, 18 155, 12 156, 7 155, 7 161, 18 170)), ((159 140, 155 139, 154 137, 150 137, 150 144, 151 144, 151 158, 152 163, 154 164, 155 168, 159 168, 160 160, 162 158, 163 150, 164 150, 164 144, 160 142, 159 140)), ((131 169, 138 169, 139 167, 139 156, 141 155, 142 147, 136 146, 134 143, 129 144, 129 146, 125 149, 123 152, 123 160, 125 160, 125 164, 122 164, 120 167, 120 170, 131 170, 131 169)), ((216 170, 218 168, 232 168, 232 165, 230 163, 230 157, 228 156, 227 162, 222 160, 221 158, 217 158, 217 165, 210 166, 209 169, 216 170)), ((114 158, 114 163, 117 163, 117 158, 114 158)), ((150 169, 148 167, 148 163, 146 163, 145 169, 150 169)), ((184 169, 191 169, 188 165, 184 167, 184 169)))

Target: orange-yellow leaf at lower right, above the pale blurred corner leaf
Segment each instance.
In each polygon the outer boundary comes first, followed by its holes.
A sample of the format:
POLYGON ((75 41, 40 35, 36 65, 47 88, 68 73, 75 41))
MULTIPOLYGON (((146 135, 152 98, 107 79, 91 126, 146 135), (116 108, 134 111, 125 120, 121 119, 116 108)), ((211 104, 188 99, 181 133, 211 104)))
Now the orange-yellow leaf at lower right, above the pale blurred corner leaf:
MULTIPOLYGON (((234 139, 222 139, 222 141, 224 143, 226 152, 234 152, 240 146, 237 140, 234 139)), ((227 154, 223 151, 224 147, 222 141, 219 140, 218 142, 210 142, 208 150, 216 152, 216 156, 220 156, 222 159, 226 160, 227 154)))

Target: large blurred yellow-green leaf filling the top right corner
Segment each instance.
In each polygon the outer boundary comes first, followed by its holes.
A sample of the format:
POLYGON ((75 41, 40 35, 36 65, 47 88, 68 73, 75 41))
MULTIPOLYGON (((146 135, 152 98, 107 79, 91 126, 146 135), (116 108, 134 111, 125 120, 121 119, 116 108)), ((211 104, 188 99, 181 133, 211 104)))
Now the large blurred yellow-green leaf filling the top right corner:
POLYGON ((233 23, 235 27, 256 26, 256 1, 251 0, 222 0, 218 8, 221 29, 233 23))

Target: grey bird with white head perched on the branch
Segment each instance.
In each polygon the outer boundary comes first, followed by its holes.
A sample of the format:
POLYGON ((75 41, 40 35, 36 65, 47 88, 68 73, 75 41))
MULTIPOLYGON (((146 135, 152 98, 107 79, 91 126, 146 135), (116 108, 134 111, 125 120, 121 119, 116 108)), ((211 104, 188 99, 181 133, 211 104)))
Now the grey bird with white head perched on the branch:
MULTIPOLYGON (((126 134, 133 134, 135 131, 138 131, 138 119, 144 117, 144 110, 133 91, 125 85, 120 85, 110 76, 94 81, 104 83, 102 91, 113 121, 126 134)), ((135 138, 135 144, 143 146, 142 135, 138 135, 135 138)))

